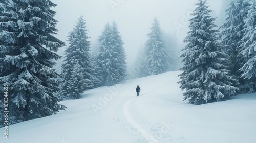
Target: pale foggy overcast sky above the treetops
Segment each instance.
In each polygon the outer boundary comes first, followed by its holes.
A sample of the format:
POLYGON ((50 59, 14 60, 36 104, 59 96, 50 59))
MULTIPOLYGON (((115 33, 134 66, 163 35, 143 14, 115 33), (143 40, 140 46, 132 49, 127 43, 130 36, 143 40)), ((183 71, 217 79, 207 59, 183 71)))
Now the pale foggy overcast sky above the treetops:
MULTIPOLYGON (((162 30, 175 33, 182 42, 188 31, 187 19, 195 8, 198 0, 52 0, 58 6, 55 19, 59 30, 57 38, 66 41, 68 33, 73 29, 76 21, 82 15, 86 20, 89 39, 92 45, 96 42, 106 22, 115 20, 127 55, 127 62, 131 66, 141 45, 144 45, 149 28, 156 16, 162 30), (118 4, 118 5, 111 5, 118 4)), ((222 0, 208 0, 213 16, 219 15, 222 0)), ((60 51, 63 51, 63 47, 60 51)))

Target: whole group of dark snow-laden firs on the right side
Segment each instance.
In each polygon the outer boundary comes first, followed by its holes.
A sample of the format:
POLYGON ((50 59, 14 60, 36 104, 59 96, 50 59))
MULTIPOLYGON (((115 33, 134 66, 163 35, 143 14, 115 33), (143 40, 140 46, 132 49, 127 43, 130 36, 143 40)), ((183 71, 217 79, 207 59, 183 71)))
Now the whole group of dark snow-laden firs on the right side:
POLYGON ((206 4, 196 3, 181 55, 179 84, 192 104, 256 91, 256 1, 231 1, 219 30, 206 4))

